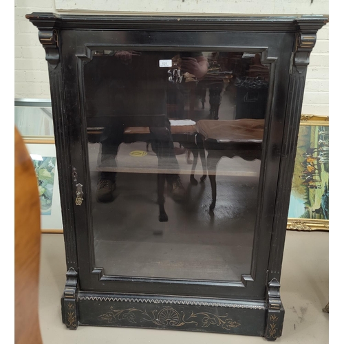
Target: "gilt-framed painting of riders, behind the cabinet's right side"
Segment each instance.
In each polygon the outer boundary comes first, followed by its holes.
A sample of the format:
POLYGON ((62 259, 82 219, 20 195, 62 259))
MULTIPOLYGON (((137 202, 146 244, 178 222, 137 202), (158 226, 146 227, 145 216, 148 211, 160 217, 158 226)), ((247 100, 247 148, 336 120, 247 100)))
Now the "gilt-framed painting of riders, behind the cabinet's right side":
POLYGON ((287 229, 329 230, 329 118, 301 115, 287 229))

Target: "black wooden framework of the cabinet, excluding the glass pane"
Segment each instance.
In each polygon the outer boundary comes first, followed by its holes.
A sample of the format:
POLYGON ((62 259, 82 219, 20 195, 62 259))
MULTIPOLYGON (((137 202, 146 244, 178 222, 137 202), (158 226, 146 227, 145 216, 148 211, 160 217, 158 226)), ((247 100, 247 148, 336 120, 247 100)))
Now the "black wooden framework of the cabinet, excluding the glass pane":
POLYGON ((309 56, 323 16, 140 17, 32 13, 49 67, 67 281, 63 322, 281 336, 279 281, 309 56), (270 68, 250 275, 196 281, 105 275, 94 264, 83 66, 92 50, 261 53, 270 68), (76 184, 83 203, 76 205, 76 184))

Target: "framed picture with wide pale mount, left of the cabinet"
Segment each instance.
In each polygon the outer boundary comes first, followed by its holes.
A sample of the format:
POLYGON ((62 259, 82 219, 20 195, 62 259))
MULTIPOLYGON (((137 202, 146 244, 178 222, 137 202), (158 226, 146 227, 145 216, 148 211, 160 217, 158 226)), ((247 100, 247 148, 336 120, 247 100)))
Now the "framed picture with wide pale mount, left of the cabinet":
POLYGON ((24 142, 37 176, 41 202, 41 231, 63 233, 55 144, 31 143, 28 140, 24 142))

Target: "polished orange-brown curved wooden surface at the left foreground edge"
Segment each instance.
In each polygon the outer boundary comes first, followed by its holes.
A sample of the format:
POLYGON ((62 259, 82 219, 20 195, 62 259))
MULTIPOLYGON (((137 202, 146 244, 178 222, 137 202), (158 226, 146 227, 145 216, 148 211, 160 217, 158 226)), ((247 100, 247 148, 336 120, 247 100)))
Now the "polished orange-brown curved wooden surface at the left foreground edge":
POLYGON ((14 129, 14 207, 14 343, 41 344, 39 192, 32 160, 17 129, 14 129))

